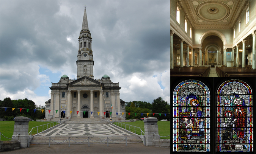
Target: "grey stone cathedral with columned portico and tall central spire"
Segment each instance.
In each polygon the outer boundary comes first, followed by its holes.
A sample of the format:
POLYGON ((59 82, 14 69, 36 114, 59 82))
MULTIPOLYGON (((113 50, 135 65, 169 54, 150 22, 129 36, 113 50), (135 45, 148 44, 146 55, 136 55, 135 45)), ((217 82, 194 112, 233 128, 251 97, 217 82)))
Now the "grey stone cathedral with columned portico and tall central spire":
POLYGON ((77 79, 63 75, 50 87, 51 98, 46 101, 46 119, 65 118, 125 118, 125 102, 120 99, 119 82, 108 75, 101 79, 93 76, 92 37, 88 27, 86 9, 77 51, 77 79))

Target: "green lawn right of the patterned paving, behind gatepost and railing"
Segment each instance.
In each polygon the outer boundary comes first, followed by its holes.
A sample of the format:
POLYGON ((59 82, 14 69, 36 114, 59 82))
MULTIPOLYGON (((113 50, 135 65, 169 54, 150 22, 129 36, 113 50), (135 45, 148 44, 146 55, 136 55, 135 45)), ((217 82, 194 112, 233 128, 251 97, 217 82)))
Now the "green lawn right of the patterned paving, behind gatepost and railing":
MULTIPOLYGON (((135 121, 135 122, 124 122, 125 124, 129 124, 129 125, 132 125, 132 126, 136 126, 136 127, 139 127, 143 132, 144 132, 144 122, 143 121, 135 121)), ((116 123, 115 123, 116 124, 116 123)), ((170 135, 171 134, 171 121, 158 121, 157 122, 157 125, 158 125, 158 132, 159 132, 159 135, 160 136, 167 136, 167 135, 170 135)), ((118 126, 118 123, 117 123, 117 126, 118 126)), ((126 127, 127 130, 130 129, 131 132, 135 132, 136 131, 136 134, 140 135, 141 134, 141 131, 139 128, 135 128, 135 131, 134 131, 134 127, 132 127, 128 125, 124 125, 123 124, 123 128, 126 127)), ((121 127, 121 123, 119 123, 119 127, 121 127)), ((143 134, 143 133, 142 133, 143 134)), ((171 139, 171 136, 168 136, 168 137, 160 137, 161 139, 171 139)))

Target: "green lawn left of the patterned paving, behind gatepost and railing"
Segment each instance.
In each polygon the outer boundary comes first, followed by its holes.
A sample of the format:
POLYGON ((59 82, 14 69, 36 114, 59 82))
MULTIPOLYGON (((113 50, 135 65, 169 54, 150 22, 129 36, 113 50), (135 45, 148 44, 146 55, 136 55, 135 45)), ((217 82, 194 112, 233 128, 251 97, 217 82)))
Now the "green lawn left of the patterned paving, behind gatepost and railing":
MULTIPOLYGON (((33 127, 39 126, 38 127, 38 133, 42 131, 42 126, 43 124, 47 124, 47 123, 51 123, 52 121, 43 121, 43 122, 39 122, 39 121, 29 121, 28 123, 28 132, 31 131, 31 129, 33 127)), ((55 123, 56 125, 56 123, 55 123)), ((53 123, 52 123, 53 126, 53 123)), ((14 127, 14 121, 0 121, 0 132, 1 134, 3 134, 5 137, 11 138, 11 136, 13 135, 13 127, 14 127)), ((48 124, 48 128, 50 128, 50 124, 48 124)), ((47 125, 44 125, 44 130, 47 129, 47 125)), ((37 132, 37 129, 33 129, 32 130, 32 135, 35 135, 37 132)), ((11 140, 8 138, 5 138, 1 135, 1 141, 7 141, 7 140, 11 140)))

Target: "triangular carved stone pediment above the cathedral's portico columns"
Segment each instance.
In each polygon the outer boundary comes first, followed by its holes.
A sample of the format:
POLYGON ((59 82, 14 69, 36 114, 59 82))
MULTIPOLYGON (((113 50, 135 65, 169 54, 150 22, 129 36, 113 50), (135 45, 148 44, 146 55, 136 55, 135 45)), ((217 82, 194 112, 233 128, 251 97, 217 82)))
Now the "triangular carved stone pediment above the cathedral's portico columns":
POLYGON ((70 82, 67 86, 104 86, 103 83, 96 81, 93 78, 88 76, 83 76, 82 78, 76 79, 75 81, 70 82))

